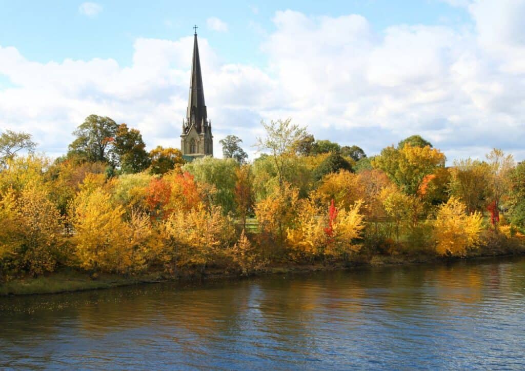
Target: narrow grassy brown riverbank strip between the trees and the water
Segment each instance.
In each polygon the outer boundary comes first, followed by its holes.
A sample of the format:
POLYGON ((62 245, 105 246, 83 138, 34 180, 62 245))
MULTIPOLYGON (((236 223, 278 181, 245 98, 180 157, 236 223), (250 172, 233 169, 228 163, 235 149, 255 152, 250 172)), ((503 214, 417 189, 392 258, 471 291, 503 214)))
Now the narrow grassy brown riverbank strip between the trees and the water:
MULTIPOLYGON (((476 261, 488 258, 504 258, 510 256, 523 256, 525 249, 509 251, 472 251, 471 255, 465 257, 440 257, 437 255, 373 255, 366 262, 342 262, 334 264, 288 264, 268 266, 264 271, 260 271, 250 276, 266 276, 271 274, 289 273, 308 273, 319 271, 334 270, 353 270, 371 266, 404 266, 426 263, 449 263, 457 261, 476 261)), ((144 274, 137 277, 124 277, 118 274, 100 274, 97 279, 92 279, 88 272, 66 267, 47 275, 37 278, 23 278, 8 281, 0 284, 0 297, 20 296, 20 295, 50 295, 61 293, 74 293, 81 291, 104 290, 107 288, 132 286, 140 284, 155 284, 167 282, 196 282, 199 280, 226 280, 242 279, 246 277, 239 272, 228 272, 220 269, 210 269, 204 274, 196 274, 186 271, 175 277, 165 277, 160 272, 144 274)))

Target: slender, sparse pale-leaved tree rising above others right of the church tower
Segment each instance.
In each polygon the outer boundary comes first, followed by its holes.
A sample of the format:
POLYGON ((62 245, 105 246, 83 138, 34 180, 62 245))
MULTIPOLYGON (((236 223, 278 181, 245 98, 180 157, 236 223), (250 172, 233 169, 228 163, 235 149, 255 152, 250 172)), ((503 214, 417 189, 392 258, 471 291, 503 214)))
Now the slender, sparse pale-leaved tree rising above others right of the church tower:
POLYGON ((283 187, 287 158, 295 156, 301 140, 306 136, 306 129, 292 124, 291 119, 261 121, 266 130, 266 137, 258 137, 256 146, 259 151, 270 151, 277 168, 279 187, 283 187))

